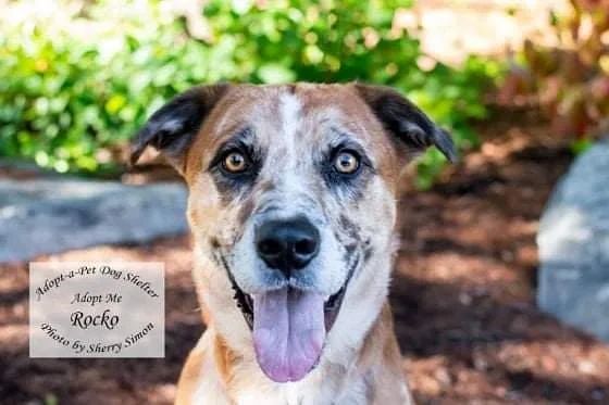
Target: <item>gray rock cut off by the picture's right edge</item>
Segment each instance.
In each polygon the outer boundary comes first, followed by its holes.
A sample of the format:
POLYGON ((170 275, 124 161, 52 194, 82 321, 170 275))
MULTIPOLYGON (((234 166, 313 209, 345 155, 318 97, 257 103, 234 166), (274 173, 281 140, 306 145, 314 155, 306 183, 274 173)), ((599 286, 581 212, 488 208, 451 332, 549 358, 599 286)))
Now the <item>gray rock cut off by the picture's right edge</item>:
POLYGON ((580 156, 558 185, 537 244, 539 307, 609 342, 609 140, 580 156))

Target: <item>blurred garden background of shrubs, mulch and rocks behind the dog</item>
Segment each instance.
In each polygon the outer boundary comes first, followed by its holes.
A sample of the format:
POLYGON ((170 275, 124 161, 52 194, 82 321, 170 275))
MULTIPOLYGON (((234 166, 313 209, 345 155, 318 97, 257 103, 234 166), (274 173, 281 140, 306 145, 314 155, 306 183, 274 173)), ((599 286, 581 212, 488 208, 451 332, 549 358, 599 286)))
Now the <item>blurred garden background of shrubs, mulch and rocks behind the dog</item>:
POLYGON ((609 403, 607 0, 0 0, 1 402, 171 403, 203 330, 186 197, 159 156, 126 168, 129 139, 197 84, 350 80, 462 155, 403 180, 418 403, 609 403), (166 357, 29 359, 34 260, 164 262, 166 357))

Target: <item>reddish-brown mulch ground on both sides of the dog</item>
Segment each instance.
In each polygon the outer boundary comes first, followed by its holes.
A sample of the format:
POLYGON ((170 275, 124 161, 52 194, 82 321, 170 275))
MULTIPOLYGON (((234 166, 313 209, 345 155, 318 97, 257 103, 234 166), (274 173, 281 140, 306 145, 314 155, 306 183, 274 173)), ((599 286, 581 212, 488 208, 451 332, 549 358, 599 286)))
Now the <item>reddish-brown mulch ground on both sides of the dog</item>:
MULTIPOLYGON (((405 187, 391 289, 405 372, 420 404, 607 404, 609 345, 535 306, 538 218, 571 154, 534 114, 501 115, 433 190, 405 187)), ((172 401, 203 330, 188 237, 41 258, 119 257, 166 264, 166 357, 29 359, 26 264, 0 265, 0 403, 172 401)))

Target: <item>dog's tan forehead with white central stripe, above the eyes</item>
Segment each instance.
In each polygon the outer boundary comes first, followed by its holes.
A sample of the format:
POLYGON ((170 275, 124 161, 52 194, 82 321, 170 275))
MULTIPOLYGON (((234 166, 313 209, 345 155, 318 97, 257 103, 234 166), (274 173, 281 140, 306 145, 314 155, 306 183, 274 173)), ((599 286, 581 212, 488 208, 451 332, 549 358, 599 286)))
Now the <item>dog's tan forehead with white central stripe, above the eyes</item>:
MULTIPOLYGON (((336 134, 371 154, 386 153, 382 125, 352 85, 233 86, 201 128, 188 154, 190 173, 226 141, 249 129, 264 149, 319 149, 336 134)), ((372 156, 374 159, 374 156, 372 156)))

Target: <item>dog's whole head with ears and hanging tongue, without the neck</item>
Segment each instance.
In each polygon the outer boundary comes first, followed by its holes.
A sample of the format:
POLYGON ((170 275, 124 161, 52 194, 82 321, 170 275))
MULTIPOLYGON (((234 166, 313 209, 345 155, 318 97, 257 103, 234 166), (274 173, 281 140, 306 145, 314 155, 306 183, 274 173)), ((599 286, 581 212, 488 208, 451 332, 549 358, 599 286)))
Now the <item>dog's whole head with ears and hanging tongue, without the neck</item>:
POLYGON ((349 332, 362 334, 351 324, 365 329, 378 313, 409 152, 435 144, 453 157, 421 111, 362 85, 196 88, 150 118, 134 162, 148 144, 188 183, 215 327, 235 344, 253 342, 278 382, 303 378, 331 331, 349 343, 349 332))

